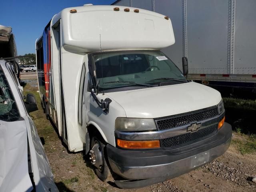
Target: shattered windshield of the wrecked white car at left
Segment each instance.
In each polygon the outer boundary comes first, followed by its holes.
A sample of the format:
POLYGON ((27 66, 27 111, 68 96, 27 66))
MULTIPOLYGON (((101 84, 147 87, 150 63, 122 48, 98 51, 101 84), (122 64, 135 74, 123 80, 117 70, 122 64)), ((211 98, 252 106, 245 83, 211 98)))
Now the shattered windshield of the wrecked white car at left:
POLYGON ((16 103, 4 72, 0 68, 0 120, 16 121, 20 118, 16 103))

